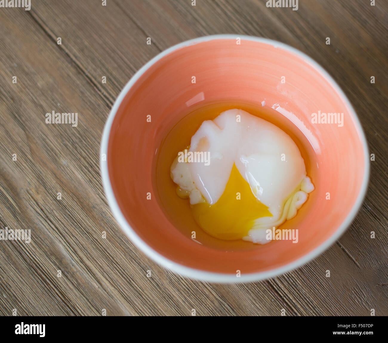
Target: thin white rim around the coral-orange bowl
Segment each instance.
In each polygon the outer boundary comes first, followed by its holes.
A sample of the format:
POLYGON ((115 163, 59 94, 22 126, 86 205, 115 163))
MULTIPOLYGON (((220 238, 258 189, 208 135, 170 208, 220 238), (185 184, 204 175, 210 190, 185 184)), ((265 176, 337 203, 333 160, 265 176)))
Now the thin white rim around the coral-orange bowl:
POLYGON ((359 211, 360 206, 362 205, 362 202, 364 200, 364 196, 367 191, 367 186, 369 181, 369 151, 368 151, 368 146, 367 146, 367 141, 365 138, 364 131, 362 129, 359 118, 357 117, 357 114, 353 109, 353 106, 351 105, 350 101, 346 97, 345 93, 343 93, 340 86, 338 86, 336 81, 334 81, 334 79, 326 72, 326 70, 323 69, 323 67, 321 67, 317 62, 315 62, 311 57, 309 57, 305 53, 287 44, 284 44, 275 40, 270 40, 267 38, 260 38, 255 36, 244 36, 244 35, 238 35, 238 34, 215 34, 210 36, 194 38, 194 39, 179 43, 177 45, 173 45, 172 47, 162 51, 154 58, 152 58, 149 62, 143 65, 143 67, 141 67, 139 71, 137 71, 132 76, 132 78, 128 81, 128 83, 125 85, 123 90, 120 92, 119 96, 116 98, 116 101, 114 102, 111 112, 109 113, 108 119, 106 121, 104 131, 102 133, 102 141, 101 141, 101 147, 100 147, 100 169, 101 169, 101 177, 102 177, 102 183, 104 186, 105 194, 109 203, 109 207, 111 208, 111 211, 116 221, 121 226, 121 228, 123 229, 124 233, 128 236, 128 238, 137 246, 137 248, 139 248, 142 252, 144 252, 148 257, 150 257, 152 260, 162 265, 163 267, 191 279, 197 279, 199 281, 216 282, 216 283, 243 283, 243 282, 259 281, 263 279, 272 278, 274 276, 284 274, 285 272, 296 269, 301 265, 314 259, 324 251, 326 251, 331 245, 333 245, 333 243, 338 238, 340 238, 340 236, 346 231, 348 226, 352 223, 354 217, 359 211), (343 102, 348 106, 350 110, 350 115, 353 116, 353 119, 355 121, 355 126, 360 132, 360 138, 362 141, 362 146, 364 148, 364 158, 365 158, 364 178, 362 180, 362 185, 361 185, 359 194, 357 196, 357 200, 355 201, 352 209, 350 210, 349 214, 346 216, 345 220, 341 223, 338 229, 326 241, 324 241, 322 244, 317 246, 314 250, 310 251, 306 255, 286 265, 283 265, 275 269, 270 269, 268 271, 241 274, 239 278, 237 278, 236 274, 209 272, 209 271, 203 271, 200 269, 194 269, 191 267, 186 267, 184 265, 173 262, 170 259, 167 259, 163 255, 161 255, 160 253, 152 249, 149 245, 147 245, 147 243, 145 243, 145 241, 143 241, 138 236, 138 234, 131 228, 131 226, 126 221, 124 215, 120 210, 120 207, 116 201, 116 198, 112 190, 111 181, 109 179, 108 164, 107 164, 107 149, 108 149, 108 143, 109 143, 109 134, 111 131, 111 126, 112 126, 114 117, 116 115, 116 112, 119 109, 121 102, 123 101, 125 95, 128 93, 130 88, 133 86, 133 84, 135 84, 135 82, 140 78, 140 76, 142 76, 144 72, 147 71, 149 67, 151 67, 151 65, 155 64, 158 60, 162 59, 169 53, 175 50, 178 50, 180 48, 187 47, 189 45, 194 45, 197 43, 202 43, 202 42, 211 41, 211 40, 236 39, 236 38, 240 38, 242 41, 249 40, 249 41, 255 41, 259 43, 265 43, 265 44, 272 45, 275 48, 282 48, 284 50, 287 50, 291 53, 294 53, 301 59, 305 60, 305 62, 309 63, 318 72, 320 72, 320 74, 322 74, 322 76, 326 78, 326 80, 331 84, 331 86, 334 88, 336 93, 342 98, 343 102), (106 156, 105 161, 103 161, 102 159, 103 154, 105 154, 106 156))

